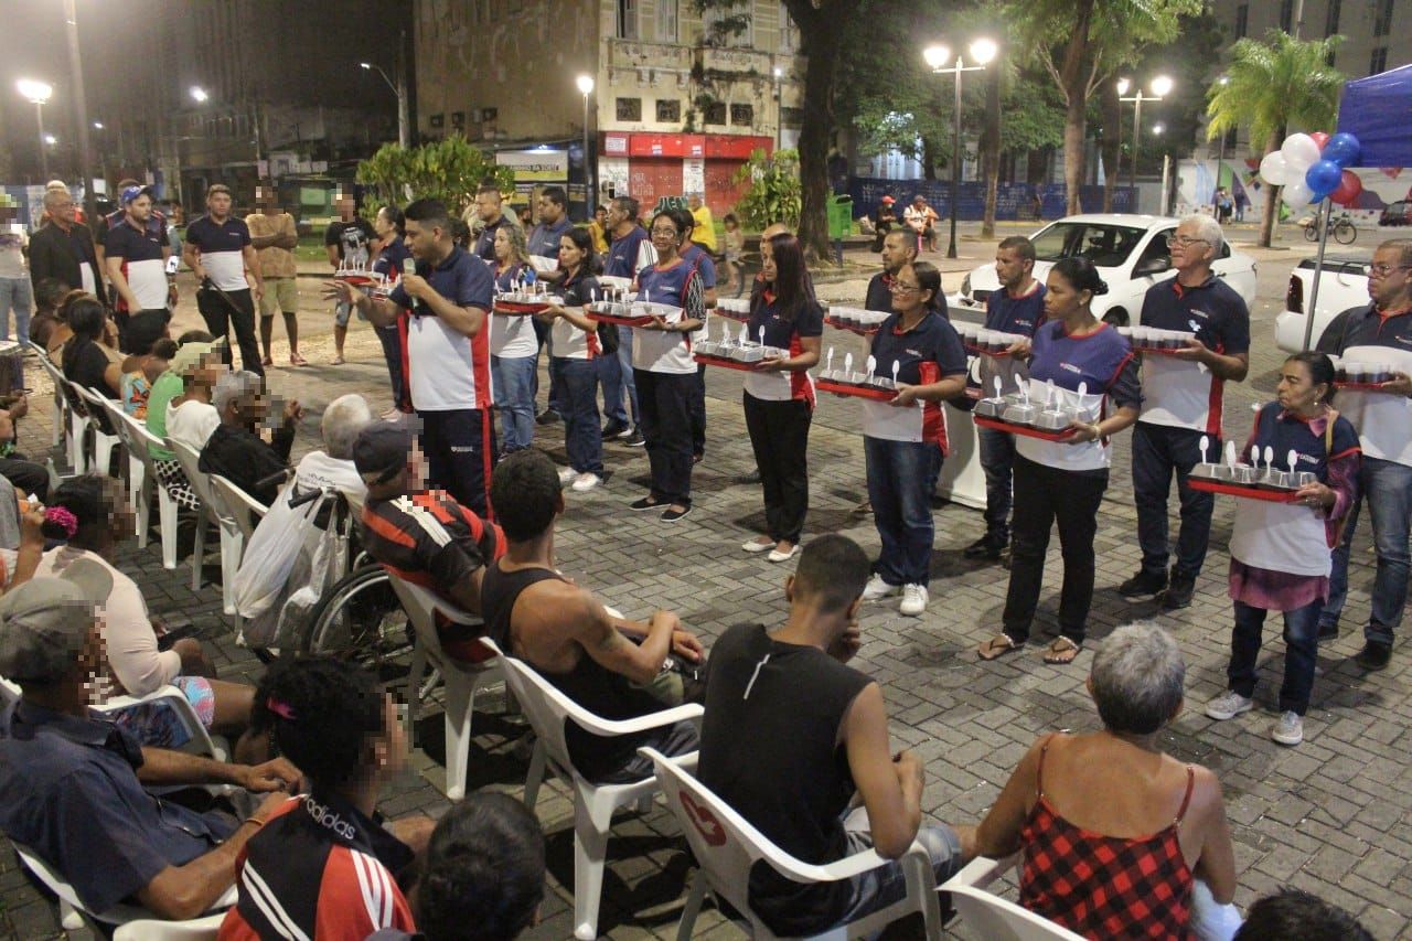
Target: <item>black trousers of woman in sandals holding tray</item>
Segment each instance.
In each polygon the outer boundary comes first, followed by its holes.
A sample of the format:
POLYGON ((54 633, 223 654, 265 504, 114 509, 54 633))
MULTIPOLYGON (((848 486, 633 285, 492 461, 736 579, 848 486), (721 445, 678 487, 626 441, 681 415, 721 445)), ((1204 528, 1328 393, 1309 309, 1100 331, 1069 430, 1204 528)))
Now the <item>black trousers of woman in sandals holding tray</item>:
POLYGON ((1108 489, 1108 472, 1060 470, 1017 454, 1014 489, 1010 591, 1001 629, 1017 643, 1029 640, 1045 578, 1049 528, 1058 523, 1063 550, 1059 633, 1082 644, 1093 605, 1093 538, 1099 533, 1099 503, 1108 489))

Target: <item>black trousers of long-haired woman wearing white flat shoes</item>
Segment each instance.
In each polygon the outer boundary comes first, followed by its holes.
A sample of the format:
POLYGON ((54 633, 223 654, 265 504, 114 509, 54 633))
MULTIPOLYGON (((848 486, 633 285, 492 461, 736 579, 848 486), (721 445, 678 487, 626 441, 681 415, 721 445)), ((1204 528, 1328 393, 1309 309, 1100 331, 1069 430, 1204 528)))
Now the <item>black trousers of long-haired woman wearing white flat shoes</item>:
POLYGON ((765 492, 765 533, 799 544, 809 513, 809 403, 771 401, 744 393, 746 430, 765 492))

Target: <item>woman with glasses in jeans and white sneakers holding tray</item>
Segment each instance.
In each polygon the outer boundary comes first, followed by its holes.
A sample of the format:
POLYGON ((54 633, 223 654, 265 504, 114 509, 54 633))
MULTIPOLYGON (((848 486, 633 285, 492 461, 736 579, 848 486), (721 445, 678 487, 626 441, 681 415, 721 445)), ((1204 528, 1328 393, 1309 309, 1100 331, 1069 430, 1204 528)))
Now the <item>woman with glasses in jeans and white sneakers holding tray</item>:
POLYGON ((932 569, 932 454, 946 451, 942 403, 966 393, 966 350, 946 319, 942 273, 926 261, 905 264, 892 280, 892 314, 873 335, 874 374, 897 376, 891 401, 863 401, 863 454, 868 500, 882 550, 864 600, 902 592, 898 610, 926 610, 932 569))

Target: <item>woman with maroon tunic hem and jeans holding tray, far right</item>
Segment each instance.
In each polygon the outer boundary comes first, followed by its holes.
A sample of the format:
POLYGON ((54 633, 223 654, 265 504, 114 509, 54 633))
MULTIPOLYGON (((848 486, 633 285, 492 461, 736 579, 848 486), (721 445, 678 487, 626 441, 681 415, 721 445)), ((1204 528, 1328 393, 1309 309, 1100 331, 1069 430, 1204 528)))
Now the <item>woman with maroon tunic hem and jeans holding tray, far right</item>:
POLYGON ((1315 473, 1317 483, 1299 487, 1298 503, 1236 500, 1231 526, 1230 595, 1236 603, 1230 688, 1206 704, 1206 715, 1231 719, 1254 708, 1255 661, 1260 658, 1265 612, 1285 616, 1285 681, 1279 688, 1279 721, 1269 736, 1281 745, 1305 738, 1305 712, 1315 685, 1319 613, 1329 596, 1332 550, 1341 520, 1353 506, 1358 478, 1358 434, 1329 407, 1333 362, 1306 350, 1279 370, 1279 400, 1262 407, 1243 454, 1272 449, 1276 462, 1315 473))

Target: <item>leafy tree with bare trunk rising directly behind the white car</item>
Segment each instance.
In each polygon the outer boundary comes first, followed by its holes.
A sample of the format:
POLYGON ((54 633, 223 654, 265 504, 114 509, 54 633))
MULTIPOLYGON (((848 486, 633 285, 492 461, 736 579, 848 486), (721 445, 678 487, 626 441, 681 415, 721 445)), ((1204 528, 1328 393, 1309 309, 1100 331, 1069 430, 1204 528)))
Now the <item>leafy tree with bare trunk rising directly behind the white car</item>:
POLYGON ((1077 212, 1090 99, 1144 47, 1176 38, 1179 17, 1200 13, 1202 0, 1010 0, 1005 8, 1018 48, 1063 97, 1065 188, 1067 211, 1077 212))

